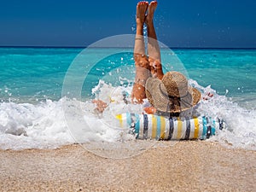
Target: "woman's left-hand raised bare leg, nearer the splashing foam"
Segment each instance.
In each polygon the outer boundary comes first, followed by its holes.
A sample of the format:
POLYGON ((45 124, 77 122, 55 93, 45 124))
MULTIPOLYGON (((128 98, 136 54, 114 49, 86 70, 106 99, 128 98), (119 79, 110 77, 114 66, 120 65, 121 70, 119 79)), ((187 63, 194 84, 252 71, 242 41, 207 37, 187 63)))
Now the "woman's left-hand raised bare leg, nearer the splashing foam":
POLYGON ((146 20, 148 2, 137 3, 137 32, 134 45, 134 61, 136 67, 135 82, 132 88, 131 100, 135 103, 143 103, 146 98, 145 84, 150 77, 148 56, 145 51, 143 38, 143 25, 146 20))

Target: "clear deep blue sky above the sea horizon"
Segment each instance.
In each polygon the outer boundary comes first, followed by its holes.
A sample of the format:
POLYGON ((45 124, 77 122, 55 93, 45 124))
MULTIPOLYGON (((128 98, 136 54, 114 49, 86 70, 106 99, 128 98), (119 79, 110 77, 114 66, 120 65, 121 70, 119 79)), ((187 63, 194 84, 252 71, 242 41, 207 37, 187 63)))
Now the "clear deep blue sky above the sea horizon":
MULTIPOLYGON (((0 46, 87 46, 134 33, 135 0, 1 0, 0 46)), ((155 26, 171 47, 256 48, 255 0, 159 0, 155 26)))

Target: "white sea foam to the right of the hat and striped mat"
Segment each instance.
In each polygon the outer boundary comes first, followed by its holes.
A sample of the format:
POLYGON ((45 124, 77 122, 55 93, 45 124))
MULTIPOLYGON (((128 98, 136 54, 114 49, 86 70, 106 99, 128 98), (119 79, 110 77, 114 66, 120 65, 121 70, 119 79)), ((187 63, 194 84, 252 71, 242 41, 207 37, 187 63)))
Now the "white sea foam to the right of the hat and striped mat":
POLYGON ((226 129, 217 131, 210 141, 218 141, 225 147, 247 148, 256 150, 256 111, 242 108, 226 96, 218 96, 210 86, 204 88, 190 80, 201 92, 213 93, 209 100, 202 100, 198 110, 201 114, 224 119, 226 129))

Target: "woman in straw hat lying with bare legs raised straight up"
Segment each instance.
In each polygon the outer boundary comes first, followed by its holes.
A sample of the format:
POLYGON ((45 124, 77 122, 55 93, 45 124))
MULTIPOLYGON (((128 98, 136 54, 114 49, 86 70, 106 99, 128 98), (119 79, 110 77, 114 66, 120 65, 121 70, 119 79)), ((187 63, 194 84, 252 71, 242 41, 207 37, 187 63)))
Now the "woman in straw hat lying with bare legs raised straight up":
MULTIPOLYGON (((182 73, 168 72, 164 75, 160 60, 160 48, 154 30, 154 10, 157 2, 137 3, 137 33, 134 47, 136 77, 131 93, 131 101, 141 104, 148 98, 152 107, 144 108, 146 113, 165 116, 179 116, 194 107, 201 99, 201 93, 189 87, 182 73), (148 31, 148 55, 143 38, 143 26, 148 31)), ((103 112, 107 104, 94 101, 97 110, 103 112)))

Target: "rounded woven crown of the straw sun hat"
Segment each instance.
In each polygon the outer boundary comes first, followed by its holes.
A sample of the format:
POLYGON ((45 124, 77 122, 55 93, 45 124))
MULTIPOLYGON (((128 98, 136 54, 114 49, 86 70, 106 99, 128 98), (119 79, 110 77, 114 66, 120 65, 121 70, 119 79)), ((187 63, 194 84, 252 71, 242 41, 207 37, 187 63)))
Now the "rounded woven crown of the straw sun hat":
POLYGON ((183 97, 188 94, 188 80, 182 73, 168 72, 164 75, 160 89, 168 96, 183 97))

